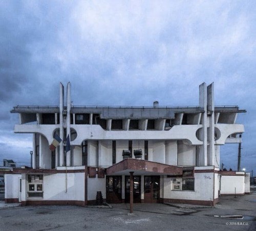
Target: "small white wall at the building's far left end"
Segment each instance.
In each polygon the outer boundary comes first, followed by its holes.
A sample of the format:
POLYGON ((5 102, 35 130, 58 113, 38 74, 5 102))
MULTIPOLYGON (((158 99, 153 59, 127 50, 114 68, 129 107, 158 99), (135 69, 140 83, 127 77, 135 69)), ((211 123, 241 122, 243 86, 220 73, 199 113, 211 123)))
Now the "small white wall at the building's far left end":
POLYGON ((5 199, 18 198, 21 174, 5 174, 5 199))

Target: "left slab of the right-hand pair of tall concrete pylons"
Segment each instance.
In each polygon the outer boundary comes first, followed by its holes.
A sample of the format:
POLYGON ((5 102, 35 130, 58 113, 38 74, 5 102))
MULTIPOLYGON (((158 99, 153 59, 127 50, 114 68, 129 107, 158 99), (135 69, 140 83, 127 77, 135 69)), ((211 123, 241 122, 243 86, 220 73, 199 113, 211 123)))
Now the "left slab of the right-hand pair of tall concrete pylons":
POLYGON ((204 109, 202 113, 202 125, 203 128, 199 134, 200 140, 203 141, 203 145, 199 146, 199 165, 207 166, 207 87, 206 83, 202 83, 199 86, 199 107, 204 109))

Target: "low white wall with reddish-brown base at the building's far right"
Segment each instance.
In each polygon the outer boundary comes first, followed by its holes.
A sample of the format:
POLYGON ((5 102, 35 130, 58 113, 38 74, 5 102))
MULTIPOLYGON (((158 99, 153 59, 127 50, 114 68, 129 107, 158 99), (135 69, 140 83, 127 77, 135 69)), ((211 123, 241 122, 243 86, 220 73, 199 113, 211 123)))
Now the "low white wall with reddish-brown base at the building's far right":
POLYGON ((221 194, 244 194, 245 183, 244 176, 221 176, 221 194))

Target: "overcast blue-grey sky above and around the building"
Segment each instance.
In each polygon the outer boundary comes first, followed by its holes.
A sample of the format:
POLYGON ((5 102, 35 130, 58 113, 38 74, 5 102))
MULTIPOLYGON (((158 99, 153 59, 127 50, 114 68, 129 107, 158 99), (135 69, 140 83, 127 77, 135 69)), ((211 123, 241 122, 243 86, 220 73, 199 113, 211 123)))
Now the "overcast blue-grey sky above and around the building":
MULTIPOLYGON (((239 105, 242 168, 256 175, 256 1, 0 0, 0 165, 30 163, 31 134, 14 134, 16 105, 239 105)), ((238 144, 221 147, 237 168, 238 144)))

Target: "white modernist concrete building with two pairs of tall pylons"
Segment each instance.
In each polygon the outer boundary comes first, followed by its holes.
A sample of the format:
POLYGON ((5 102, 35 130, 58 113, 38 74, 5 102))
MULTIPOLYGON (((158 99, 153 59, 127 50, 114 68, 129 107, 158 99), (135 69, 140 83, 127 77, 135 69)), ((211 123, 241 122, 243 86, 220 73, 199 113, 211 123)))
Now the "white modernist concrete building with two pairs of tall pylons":
POLYGON ((73 106, 70 83, 67 105, 61 83, 59 94, 59 106, 11 110, 14 132, 33 133, 33 168, 6 175, 7 202, 87 205, 100 191, 110 203, 214 205, 248 192, 244 172, 220 171, 220 146, 241 142, 236 119, 246 111, 215 106, 213 83, 186 107, 73 106))

